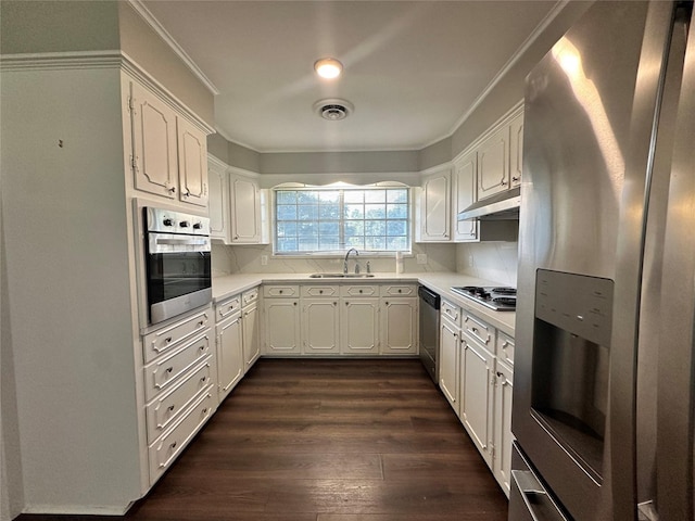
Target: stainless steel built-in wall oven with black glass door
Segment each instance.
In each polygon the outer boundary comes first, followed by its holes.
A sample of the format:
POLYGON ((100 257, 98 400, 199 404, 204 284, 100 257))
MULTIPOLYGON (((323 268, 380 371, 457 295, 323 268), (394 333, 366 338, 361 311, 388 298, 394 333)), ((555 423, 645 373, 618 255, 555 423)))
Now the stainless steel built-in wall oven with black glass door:
POLYGON ((143 211, 150 323, 208 304, 210 219, 152 206, 143 211))

